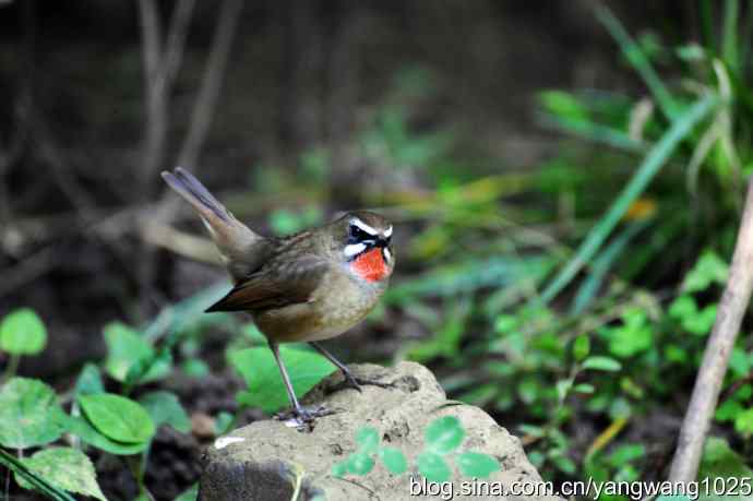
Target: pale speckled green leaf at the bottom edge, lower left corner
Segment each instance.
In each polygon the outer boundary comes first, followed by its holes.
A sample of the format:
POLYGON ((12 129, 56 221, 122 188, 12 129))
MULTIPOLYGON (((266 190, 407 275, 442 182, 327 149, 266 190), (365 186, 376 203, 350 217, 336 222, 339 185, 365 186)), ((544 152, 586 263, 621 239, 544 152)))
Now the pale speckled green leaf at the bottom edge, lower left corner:
MULTIPOLYGON (((77 449, 49 448, 22 462, 28 469, 61 489, 106 501, 97 484, 94 465, 86 454, 77 449)), ((19 474, 15 475, 15 481, 24 489, 34 488, 19 474)))

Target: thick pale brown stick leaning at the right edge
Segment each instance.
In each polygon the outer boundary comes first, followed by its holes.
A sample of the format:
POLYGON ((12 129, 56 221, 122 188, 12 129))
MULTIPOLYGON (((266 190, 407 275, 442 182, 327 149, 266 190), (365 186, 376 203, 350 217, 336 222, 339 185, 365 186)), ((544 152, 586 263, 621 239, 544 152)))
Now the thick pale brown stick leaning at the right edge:
POLYGON ((738 232, 729 281, 721 296, 714 330, 706 344, 693 395, 680 429, 678 449, 669 473, 671 481, 692 481, 698 472, 703 445, 727 372, 729 356, 753 289, 753 182, 749 182, 745 210, 738 232))

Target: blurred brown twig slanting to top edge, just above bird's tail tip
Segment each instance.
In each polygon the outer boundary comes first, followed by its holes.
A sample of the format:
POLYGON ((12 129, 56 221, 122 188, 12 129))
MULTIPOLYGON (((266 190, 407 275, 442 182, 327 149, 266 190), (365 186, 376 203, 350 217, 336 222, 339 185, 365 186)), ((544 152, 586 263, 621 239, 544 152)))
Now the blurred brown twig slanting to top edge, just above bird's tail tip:
POLYGON ((199 97, 191 114, 191 127, 178 156, 178 165, 193 167, 206 140, 242 7, 242 0, 225 0, 223 2, 223 10, 219 13, 217 28, 214 33, 212 51, 206 62, 199 97))

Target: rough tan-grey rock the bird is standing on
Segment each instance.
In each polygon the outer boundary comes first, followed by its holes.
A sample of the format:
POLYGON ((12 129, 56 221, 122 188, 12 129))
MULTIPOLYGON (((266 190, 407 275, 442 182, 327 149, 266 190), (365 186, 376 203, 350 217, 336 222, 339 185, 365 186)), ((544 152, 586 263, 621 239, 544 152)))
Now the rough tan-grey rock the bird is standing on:
MULTIPOLYGON (((440 416, 457 417, 466 430, 459 451, 479 451, 495 456, 502 470, 492 474, 487 488, 510 488, 519 496, 507 500, 555 500, 546 496, 541 478, 523 452, 518 439, 478 407, 447 401, 433 374, 414 362, 394 368, 373 365, 351 366, 366 379, 394 383, 394 387, 363 386, 362 393, 338 389, 343 377, 333 373, 303 398, 303 405, 324 405, 338 413, 319 418, 312 431, 298 431, 277 420, 256 421, 218 438, 204 455, 199 499, 203 501, 327 501, 451 499, 443 497, 451 484, 427 486, 414 467, 392 475, 380 461, 364 476, 332 475, 335 463, 356 451, 356 432, 363 426, 380 431, 382 443, 397 448, 415 464, 423 449, 423 430, 440 416), (413 485, 413 487, 411 487, 413 485), (539 486, 539 496, 533 491, 539 486), (434 496, 411 496, 419 489, 435 489, 434 496), (298 491, 296 493, 296 491, 298 491), (297 497, 296 497, 297 496, 297 497)), ((451 461, 452 462, 452 461, 451 461)), ((454 466, 453 466, 454 468, 454 466)), ((458 499, 502 499, 501 496, 459 496, 462 482, 479 482, 453 472, 453 492, 458 499)), ((425 493, 426 492, 425 490, 425 493)))

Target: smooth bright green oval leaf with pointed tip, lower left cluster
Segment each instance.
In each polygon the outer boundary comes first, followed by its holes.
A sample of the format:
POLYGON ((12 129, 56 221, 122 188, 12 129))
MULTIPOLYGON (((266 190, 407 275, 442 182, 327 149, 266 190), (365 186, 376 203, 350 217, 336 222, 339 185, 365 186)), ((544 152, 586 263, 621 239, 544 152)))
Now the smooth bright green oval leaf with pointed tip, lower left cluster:
POLYGON ((117 442, 143 443, 154 436, 148 413, 130 398, 112 393, 81 395, 79 405, 94 428, 117 442))

